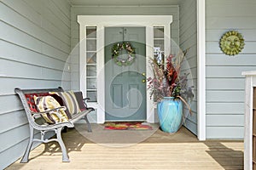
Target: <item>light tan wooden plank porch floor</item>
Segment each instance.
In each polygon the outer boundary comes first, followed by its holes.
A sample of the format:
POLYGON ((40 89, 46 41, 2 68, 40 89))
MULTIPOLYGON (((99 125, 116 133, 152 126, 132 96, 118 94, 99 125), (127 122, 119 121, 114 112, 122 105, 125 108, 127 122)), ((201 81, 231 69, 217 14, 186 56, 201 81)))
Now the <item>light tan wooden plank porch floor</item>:
MULTIPOLYGON (((84 130, 82 135, 79 128, 73 128, 62 134, 71 162, 61 162, 58 144, 40 144, 32 150, 28 163, 21 164, 18 160, 7 169, 243 169, 242 141, 200 142, 182 127, 174 134, 156 130, 138 144, 123 143, 126 141, 123 140, 120 145, 111 145, 104 143, 104 139, 119 138, 113 138, 111 133, 129 139, 130 132, 110 132, 97 125, 92 130, 93 133, 84 130)), ((141 134, 143 131, 138 133, 141 134)))

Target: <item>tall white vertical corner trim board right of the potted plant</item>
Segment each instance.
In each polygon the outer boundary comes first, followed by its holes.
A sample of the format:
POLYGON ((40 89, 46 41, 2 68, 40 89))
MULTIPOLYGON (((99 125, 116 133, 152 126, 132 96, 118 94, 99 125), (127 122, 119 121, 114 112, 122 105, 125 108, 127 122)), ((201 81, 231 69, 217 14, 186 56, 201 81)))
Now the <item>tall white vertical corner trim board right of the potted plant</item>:
POLYGON ((197 138, 206 137, 206 0, 197 0, 197 138))

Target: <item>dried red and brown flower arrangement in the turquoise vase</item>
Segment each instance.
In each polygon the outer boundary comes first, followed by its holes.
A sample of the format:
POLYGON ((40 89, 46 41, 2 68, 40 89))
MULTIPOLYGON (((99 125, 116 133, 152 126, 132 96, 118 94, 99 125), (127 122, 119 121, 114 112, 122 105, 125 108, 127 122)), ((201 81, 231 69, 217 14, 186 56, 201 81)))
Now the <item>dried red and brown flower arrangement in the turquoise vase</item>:
POLYGON ((161 101, 164 97, 181 99, 188 106, 186 100, 194 97, 192 88, 188 86, 189 73, 181 73, 181 64, 187 50, 179 51, 177 55, 170 54, 166 58, 166 65, 159 65, 155 59, 150 59, 154 77, 148 77, 148 90, 150 98, 155 102, 161 101))

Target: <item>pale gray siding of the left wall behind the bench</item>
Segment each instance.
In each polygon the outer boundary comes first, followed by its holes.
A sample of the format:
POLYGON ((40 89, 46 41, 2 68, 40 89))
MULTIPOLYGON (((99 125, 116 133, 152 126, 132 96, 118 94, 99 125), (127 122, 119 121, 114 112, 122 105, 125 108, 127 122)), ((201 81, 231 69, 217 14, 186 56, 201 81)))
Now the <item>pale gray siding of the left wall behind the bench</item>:
POLYGON ((0 2, 0 169, 23 155, 27 119, 14 89, 70 89, 70 5, 65 0, 0 2))

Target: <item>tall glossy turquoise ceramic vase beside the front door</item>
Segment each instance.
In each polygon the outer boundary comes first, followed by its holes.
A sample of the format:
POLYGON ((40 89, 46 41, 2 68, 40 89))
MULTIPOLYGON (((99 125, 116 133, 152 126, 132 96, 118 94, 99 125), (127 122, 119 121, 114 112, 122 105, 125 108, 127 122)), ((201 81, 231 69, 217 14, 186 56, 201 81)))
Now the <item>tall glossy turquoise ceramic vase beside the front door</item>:
POLYGON ((160 128, 166 133, 176 133, 183 119, 183 103, 180 99, 165 97, 157 104, 160 128))

